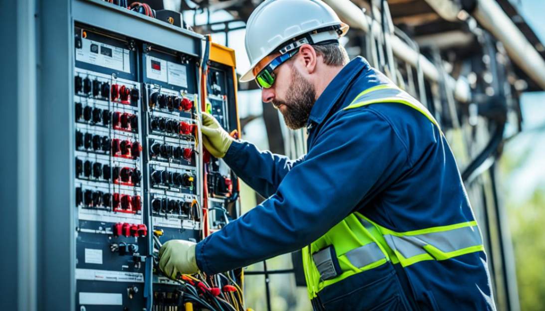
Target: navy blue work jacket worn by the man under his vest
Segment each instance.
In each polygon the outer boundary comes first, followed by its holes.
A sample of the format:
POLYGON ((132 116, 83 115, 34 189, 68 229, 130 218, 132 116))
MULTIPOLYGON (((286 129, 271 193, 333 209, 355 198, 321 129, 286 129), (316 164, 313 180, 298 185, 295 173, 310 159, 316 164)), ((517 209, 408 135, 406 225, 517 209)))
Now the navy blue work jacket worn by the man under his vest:
MULTIPOLYGON (((388 82, 364 58, 344 66, 314 103, 298 160, 234 142, 224 160, 268 199, 199 242, 199 268, 222 272, 295 251, 354 211, 397 232, 473 221, 449 145, 423 114, 398 103, 342 110, 388 82)), ((494 308, 483 252, 403 271, 420 306, 494 308)))

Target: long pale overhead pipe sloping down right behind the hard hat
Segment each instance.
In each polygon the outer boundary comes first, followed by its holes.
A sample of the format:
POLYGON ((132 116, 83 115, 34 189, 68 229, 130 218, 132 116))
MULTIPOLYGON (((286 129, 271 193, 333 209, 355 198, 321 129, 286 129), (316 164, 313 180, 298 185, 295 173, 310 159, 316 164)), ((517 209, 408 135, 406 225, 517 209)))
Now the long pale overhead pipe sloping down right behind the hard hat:
MULTIPOLYGON (((370 16, 365 15, 364 11, 355 5, 350 0, 323 0, 327 3, 338 15, 341 17, 341 20, 346 22, 350 27, 360 29, 364 32, 369 32, 371 23, 376 23, 373 25, 374 29, 379 29, 380 25, 376 20, 372 20, 370 16), (376 26, 376 27, 375 27, 376 26)), ((417 65, 420 65, 424 76, 433 82, 439 82, 441 75, 439 70, 435 68, 435 65, 432 64, 425 56, 416 52, 408 44, 399 39, 396 35, 385 34, 390 36, 390 44, 392 46, 393 54, 399 59, 402 59, 404 62, 410 64, 414 68, 417 65)), ((461 102, 469 102, 470 100, 470 89, 467 81, 455 80, 452 76, 447 76, 447 81, 445 81, 449 87, 454 90, 454 95, 456 100, 461 102)))

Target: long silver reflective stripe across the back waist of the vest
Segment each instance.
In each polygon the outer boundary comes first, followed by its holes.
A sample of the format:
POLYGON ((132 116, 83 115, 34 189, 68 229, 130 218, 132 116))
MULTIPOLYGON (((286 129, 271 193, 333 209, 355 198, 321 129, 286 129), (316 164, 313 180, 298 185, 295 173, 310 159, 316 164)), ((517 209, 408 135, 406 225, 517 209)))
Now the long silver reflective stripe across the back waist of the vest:
POLYGON ((388 246, 396 249, 404 258, 428 253, 423 248, 426 245, 431 245, 441 252, 449 253, 482 244, 481 234, 476 225, 418 235, 395 236, 386 234, 384 238, 388 246))

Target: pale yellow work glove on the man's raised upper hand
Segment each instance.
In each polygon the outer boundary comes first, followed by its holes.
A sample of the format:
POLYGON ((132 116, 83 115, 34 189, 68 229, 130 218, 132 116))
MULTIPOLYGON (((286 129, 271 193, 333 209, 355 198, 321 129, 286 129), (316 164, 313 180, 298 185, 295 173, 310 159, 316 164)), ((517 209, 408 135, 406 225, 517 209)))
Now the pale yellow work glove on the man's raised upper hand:
POLYGON ((201 131, 204 147, 209 153, 215 157, 224 157, 234 138, 226 130, 223 130, 216 118, 205 112, 203 112, 201 131))

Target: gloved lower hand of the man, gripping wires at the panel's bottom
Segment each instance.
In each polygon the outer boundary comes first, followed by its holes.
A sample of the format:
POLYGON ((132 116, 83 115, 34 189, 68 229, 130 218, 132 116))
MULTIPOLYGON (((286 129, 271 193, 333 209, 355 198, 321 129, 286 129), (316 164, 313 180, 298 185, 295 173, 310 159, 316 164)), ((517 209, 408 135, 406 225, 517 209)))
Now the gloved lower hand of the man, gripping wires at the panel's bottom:
POLYGON ((159 250, 159 269, 171 279, 175 279, 178 273, 183 275, 198 273, 195 246, 196 243, 191 241, 167 241, 159 250))

